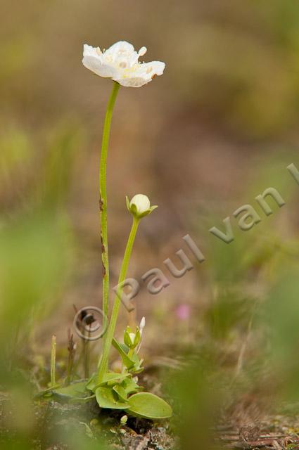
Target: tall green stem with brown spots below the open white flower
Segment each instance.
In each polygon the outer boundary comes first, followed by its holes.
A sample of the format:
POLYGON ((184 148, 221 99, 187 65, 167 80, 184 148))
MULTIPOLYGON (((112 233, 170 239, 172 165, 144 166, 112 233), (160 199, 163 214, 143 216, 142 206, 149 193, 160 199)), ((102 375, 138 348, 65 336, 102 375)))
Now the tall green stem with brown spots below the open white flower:
MULTIPOLYGON (((113 113, 113 107, 120 84, 113 82, 113 88, 108 101, 105 122, 103 128, 103 139, 101 146, 101 160, 99 172, 100 185, 100 219, 101 219, 101 249, 102 249, 102 265, 103 265, 103 326, 105 326, 105 316, 108 317, 109 304, 109 260, 108 260, 108 232, 107 232, 107 187, 106 187, 106 168, 107 153, 110 135, 110 125, 113 113)), ((103 338, 105 343, 106 336, 103 338)))

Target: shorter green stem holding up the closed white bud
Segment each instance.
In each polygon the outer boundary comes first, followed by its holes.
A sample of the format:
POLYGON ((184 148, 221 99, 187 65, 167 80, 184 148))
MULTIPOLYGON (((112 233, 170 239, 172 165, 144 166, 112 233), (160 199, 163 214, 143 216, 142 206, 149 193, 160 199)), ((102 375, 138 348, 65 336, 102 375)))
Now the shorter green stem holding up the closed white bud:
POLYGON ((110 347, 111 347, 113 335, 115 332, 115 326, 117 323, 118 312, 120 310, 120 299, 122 296, 122 282, 125 281, 125 278, 127 276, 129 259, 131 257, 132 248, 133 248, 136 232, 137 232, 138 225, 139 225, 139 220, 140 219, 136 219, 136 217, 133 218, 132 229, 131 229, 131 232, 129 233, 129 238, 127 241, 127 247, 125 250, 124 259, 122 259, 122 266, 120 268, 120 277, 118 278, 119 288, 117 290, 117 295, 115 296, 115 300, 114 300, 114 304, 113 304, 113 311, 111 314, 108 331, 106 333, 106 340, 105 340, 104 346, 103 346, 103 355, 101 357, 101 362, 100 362, 100 365, 98 368, 99 383, 101 383, 101 380, 103 380, 103 375, 105 375, 107 368, 108 368, 108 358, 109 358, 110 347))

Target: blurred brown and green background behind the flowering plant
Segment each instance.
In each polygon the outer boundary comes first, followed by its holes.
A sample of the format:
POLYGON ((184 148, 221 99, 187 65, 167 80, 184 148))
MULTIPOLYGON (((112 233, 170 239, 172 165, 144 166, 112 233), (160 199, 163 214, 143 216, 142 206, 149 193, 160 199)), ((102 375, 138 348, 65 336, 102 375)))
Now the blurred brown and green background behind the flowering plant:
MULTIPOLYGON (((186 250, 186 233, 206 257, 201 265, 193 259, 195 269, 170 278, 159 295, 139 293, 144 354, 171 366, 170 359, 195 352, 195 364, 224 379, 242 372, 240 395, 256 394, 260 372, 274 359, 290 387, 285 398, 295 400, 299 186, 286 166, 299 167, 298 2, 1 6, 1 378, 21 359, 29 372, 42 368, 44 382, 53 333, 61 356, 67 352, 73 305, 101 306, 98 159, 111 82, 83 67, 82 46, 127 40, 146 46, 144 59, 163 60, 166 69, 141 89, 121 88, 117 98, 108 156, 112 285, 129 232, 125 195, 144 193, 159 205, 141 224, 129 276, 163 269, 164 259, 186 250), (232 218, 230 245, 208 232, 240 205, 256 206, 269 186, 286 200, 283 208, 274 206, 270 217, 259 210, 262 221, 248 232, 232 218)), ((124 309, 119 330, 126 322, 124 309)))

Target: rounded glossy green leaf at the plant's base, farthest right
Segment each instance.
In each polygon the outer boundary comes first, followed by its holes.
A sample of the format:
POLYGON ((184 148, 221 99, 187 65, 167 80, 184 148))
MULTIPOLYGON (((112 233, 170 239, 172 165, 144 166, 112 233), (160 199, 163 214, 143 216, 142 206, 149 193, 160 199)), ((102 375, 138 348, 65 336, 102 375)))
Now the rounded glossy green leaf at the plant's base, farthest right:
POLYGON ((147 419, 166 419, 172 416, 172 409, 165 400, 150 392, 139 392, 129 397, 128 413, 147 419))

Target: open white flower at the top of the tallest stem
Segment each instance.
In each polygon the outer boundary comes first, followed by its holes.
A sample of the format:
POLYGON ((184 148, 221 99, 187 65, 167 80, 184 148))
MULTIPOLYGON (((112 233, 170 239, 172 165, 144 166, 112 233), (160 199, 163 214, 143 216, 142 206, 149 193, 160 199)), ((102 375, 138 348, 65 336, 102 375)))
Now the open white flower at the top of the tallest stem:
POLYGON ((139 56, 145 53, 146 47, 141 47, 137 53, 126 41, 116 42, 103 52, 99 47, 84 44, 82 63, 96 75, 112 78, 122 86, 141 87, 155 75, 162 75, 165 69, 165 63, 160 61, 139 63, 139 56))

